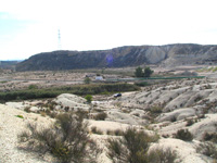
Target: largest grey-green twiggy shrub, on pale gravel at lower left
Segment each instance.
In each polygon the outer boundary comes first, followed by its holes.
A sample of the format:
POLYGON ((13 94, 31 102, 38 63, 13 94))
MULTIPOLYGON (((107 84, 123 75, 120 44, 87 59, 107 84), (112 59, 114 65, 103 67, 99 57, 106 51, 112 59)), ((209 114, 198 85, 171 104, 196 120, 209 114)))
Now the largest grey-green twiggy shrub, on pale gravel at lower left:
POLYGON ((27 148, 43 154, 50 152, 62 163, 94 162, 99 149, 89 138, 87 126, 82 116, 60 114, 56 123, 48 128, 29 123, 27 130, 18 135, 18 140, 27 142, 27 148))

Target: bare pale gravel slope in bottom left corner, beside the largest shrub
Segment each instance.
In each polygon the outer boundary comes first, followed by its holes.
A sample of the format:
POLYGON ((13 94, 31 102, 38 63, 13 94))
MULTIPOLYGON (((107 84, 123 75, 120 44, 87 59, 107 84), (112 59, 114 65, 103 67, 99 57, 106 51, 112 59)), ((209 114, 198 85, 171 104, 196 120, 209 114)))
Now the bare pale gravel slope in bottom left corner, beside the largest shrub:
POLYGON ((44 161, 36 153, 17 148, 17 135, 28 121, 46 121, 46 117, 0 104, 0 163, 50 162, 44 161), (23 115, 24 118, 16 117, 16 115, 23 115))

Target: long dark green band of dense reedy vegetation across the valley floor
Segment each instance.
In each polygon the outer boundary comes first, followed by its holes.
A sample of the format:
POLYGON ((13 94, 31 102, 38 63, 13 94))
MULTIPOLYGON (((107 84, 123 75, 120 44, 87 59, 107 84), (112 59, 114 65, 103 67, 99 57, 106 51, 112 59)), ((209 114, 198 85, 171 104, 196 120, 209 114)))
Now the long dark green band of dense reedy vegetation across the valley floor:
POLYGON ((0 92, 0 101, 29 100, 55 98, 61 93, 99 95, 102 92, 135 91, 139 87, 130 84, 101 84, 101 85, 72 85, 44 89, 24 89, 17 91, 0 92))

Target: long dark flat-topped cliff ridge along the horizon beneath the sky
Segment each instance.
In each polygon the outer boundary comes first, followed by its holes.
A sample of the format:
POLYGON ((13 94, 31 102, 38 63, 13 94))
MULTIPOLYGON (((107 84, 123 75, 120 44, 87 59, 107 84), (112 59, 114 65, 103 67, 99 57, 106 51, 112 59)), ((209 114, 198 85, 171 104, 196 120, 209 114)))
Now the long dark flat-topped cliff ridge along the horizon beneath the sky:
POLYGON ((167 45, 120 47, 95 51, 53 51, 30 57, 17 71, 58 71, 124 67, 141 64, 163 66, 217 63, 217 46, 167 45))

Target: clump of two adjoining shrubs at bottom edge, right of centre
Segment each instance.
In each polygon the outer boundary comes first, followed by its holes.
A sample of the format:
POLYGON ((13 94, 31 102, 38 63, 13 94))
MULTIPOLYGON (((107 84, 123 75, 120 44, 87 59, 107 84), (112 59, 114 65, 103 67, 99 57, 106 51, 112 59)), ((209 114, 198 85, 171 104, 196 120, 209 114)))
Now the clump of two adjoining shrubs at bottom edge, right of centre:
POLYGON ((155 136, 128 128, 123 138, 107 140, 107 156, 113 163, 174 163, 178 154, 170 149, 157 148, 149 152, 151 142, 156 141, 155 136))

